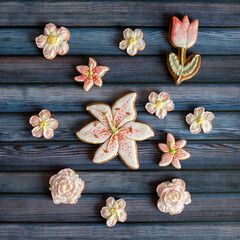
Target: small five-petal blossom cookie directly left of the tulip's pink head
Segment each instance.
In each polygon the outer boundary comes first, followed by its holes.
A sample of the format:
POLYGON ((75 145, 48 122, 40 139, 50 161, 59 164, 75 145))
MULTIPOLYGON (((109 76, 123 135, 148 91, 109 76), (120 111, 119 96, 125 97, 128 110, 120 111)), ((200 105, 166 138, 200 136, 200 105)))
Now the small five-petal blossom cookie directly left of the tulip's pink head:
POLYGON ((126 28, 123 31, 123 40, 119 43, 121 50, 126 50, 130 56, 137 54, 137 51, 142 51, 146 44, 143 40, 143 32, 139 29, 132 31, 130 28, 126 28))

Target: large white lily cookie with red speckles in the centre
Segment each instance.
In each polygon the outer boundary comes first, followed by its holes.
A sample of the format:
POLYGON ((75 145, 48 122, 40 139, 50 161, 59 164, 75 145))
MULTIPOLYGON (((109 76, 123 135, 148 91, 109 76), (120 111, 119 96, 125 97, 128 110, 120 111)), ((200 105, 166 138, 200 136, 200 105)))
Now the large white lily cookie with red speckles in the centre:
POLYGON ((136 98, 137 93, 132 92, 119 98, 112 107, 105 103, 87 105, 87 111, 96 120, 76 135, 83 142, 101 144, 93 155, 94 163, 104 163, 119 155, 129 168, 139 168, 136 141, 153 137, 154 132, 148 124, 135 122, 136 98))

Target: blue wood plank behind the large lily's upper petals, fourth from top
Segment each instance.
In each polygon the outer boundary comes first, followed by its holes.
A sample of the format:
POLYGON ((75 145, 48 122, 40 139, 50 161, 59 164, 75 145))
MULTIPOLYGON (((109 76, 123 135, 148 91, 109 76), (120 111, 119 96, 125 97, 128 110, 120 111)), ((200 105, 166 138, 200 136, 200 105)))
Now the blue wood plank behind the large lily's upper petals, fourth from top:
MULTIPOLYGON (((172 81, 172 80, 171 80, 172 81)), ((112 104, 122 95, 136 91, 138 111, 145 111, 149 94, 168 92, 175 102, 175 111, 193 111, 196 106, 208 110, 240 110, 239 84, 106 84, 102 88, 94 86, 90 93, 84 92, 82 83, 70 85, 1 85, 0 112, 34 112, 40 108, 52 111, 85 111, 87 104, 104 102, 112 104), (116 94, 117 89, 117 94, 116 94), (113 97, 114 95, 114 97, 113 97)), ((185 114, 185 113, 184 113, 185 114)))

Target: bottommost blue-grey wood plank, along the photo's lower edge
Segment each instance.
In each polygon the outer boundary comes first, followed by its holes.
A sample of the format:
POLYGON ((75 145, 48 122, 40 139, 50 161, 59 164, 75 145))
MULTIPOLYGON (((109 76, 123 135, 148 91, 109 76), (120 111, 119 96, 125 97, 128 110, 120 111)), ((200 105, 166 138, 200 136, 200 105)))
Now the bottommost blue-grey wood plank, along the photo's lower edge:
POLYGON ((39 240, 51 239, 88 239, 112 240, 233 240, 240 238, 239 223, 121 223, 115 228, 102 224, 0 224, 0 237, 5 240, 39 240))

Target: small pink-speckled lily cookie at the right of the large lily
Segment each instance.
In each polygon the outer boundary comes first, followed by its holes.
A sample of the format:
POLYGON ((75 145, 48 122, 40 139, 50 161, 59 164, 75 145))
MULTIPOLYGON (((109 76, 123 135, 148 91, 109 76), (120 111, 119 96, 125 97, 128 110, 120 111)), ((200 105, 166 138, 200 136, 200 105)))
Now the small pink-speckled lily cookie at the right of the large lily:
POLYGON ((159 143, 158 148, 163 152, 161 161, 159 162, 160 167, 166 167, 170 163, 173 167, 180 169, 180 160, 190 158, 190 153, 182 149, 187 144, 186 140, 179 140, 175 142, 175 138, 171 133, 167 134, 167 144, 159 143))

